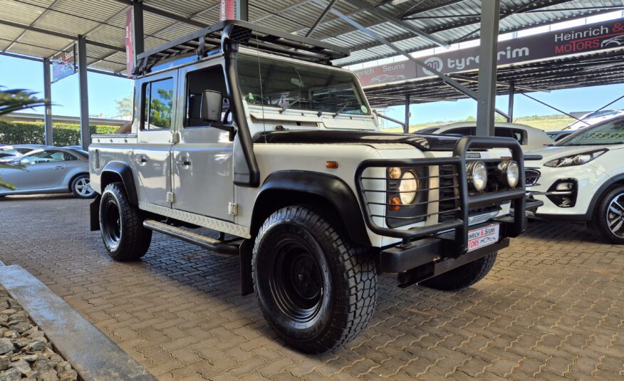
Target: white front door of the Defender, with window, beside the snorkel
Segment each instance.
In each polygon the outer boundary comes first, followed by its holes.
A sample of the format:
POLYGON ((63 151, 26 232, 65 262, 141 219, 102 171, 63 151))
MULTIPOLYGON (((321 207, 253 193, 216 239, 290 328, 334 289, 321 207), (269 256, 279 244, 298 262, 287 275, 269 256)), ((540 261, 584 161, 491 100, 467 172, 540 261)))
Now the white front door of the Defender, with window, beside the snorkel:
POLYGON ((229 104, 220 60, 181 68, 178 86, 184 92, 178 100, 180 141, 172 147, 173 207, 233 221, 228 213, 228 204, 234 201, 233 143, 222 124, 204 122, 199 115, 204 90, 222 93, 224 110, 229 104))

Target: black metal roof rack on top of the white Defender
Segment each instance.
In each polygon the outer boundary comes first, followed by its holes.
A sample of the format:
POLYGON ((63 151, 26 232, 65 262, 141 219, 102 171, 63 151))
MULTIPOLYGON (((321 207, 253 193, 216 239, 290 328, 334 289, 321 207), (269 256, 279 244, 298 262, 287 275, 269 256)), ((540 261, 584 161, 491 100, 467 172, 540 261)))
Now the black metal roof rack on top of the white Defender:
POLYGON ((133 73, 137 75, 147 73, 157 63, 170 61, 180 56, 196 54, 197 58, 201 59, 207 55, 207 52, 221 48, 222 31, 229 25, 233 25, 230 38, 236 43, 281 56, 331 64, 332 60, 345 58, 350 53, 348 48, 331 43, 276 31, 246 21, 227 20, 140 53, 137 55, 137 66, 133 73))

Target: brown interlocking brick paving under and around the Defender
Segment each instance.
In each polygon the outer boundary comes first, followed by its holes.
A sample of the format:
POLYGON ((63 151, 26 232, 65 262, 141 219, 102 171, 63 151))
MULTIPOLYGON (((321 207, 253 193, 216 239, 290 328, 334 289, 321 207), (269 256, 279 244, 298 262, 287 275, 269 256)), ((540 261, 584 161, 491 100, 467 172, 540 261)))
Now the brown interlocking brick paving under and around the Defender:
POLYGON ((137 263, 108 259, 88 201, 0 200, 0 259, 20 264, 161 380, 623 380, 624 247, 581 224, 534 221, 458 293, 380 279, 353 343, 306 356, 274 339, 237 258, 155 234, 137 263))

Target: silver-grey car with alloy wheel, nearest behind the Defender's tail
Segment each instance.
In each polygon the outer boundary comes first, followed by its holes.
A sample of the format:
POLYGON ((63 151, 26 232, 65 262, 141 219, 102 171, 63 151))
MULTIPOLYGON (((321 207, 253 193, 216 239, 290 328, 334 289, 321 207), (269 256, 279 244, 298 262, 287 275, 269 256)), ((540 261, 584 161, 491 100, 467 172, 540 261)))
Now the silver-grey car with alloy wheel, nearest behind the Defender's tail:
POLYGON ((90 187, 88 152, 46 147, 16 157, 11 163, 22 168, 0 169, 0 175, 16 189, 0 188, 0 197, 72 192, 76 197, 87 199, 95 194, 90 187))

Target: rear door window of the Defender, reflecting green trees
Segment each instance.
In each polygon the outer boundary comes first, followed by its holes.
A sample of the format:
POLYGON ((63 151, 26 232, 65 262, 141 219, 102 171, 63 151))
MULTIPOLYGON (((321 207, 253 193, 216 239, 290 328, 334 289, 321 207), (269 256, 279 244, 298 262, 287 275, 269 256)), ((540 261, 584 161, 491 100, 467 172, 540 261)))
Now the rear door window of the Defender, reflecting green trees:
POLYGON ((155 80, 143 85, 142 129, 162 130, 171 128, 173 110, 173 78, 155 80))

